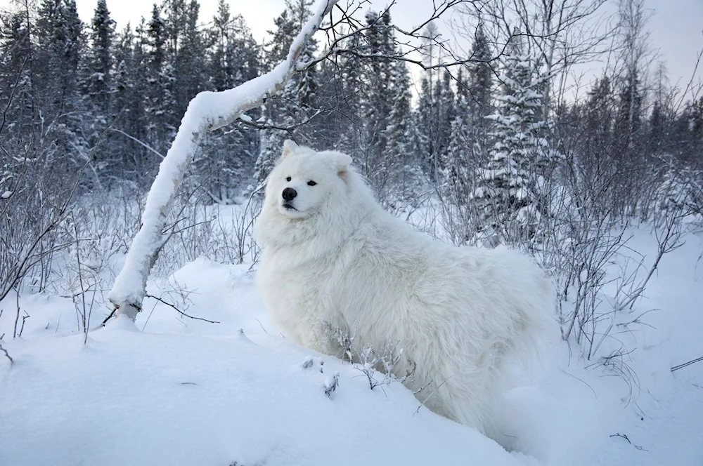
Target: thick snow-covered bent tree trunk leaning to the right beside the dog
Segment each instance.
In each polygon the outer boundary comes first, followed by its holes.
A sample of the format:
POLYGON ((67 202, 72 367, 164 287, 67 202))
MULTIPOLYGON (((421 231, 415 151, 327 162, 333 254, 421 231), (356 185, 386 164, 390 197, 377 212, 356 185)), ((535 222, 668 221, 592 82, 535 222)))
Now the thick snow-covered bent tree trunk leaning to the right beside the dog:
POLYGON ((108 298, 117 315, 134 320, 141 310, 146 281, 167 238, 162 232, 179 183, 193 160, 198 142, 207 131, 231 124, 247 110, 283 88, 295 72, 297 58, 310 37, 338 0, 318 0, 315 14, 290 46, 288 57, 270 72, 221 92, 201 92, 188 104, 176 138, 161 162, 159 173, 146 198, 141 228, 127 251, 124 266, 112 285, 108 298))

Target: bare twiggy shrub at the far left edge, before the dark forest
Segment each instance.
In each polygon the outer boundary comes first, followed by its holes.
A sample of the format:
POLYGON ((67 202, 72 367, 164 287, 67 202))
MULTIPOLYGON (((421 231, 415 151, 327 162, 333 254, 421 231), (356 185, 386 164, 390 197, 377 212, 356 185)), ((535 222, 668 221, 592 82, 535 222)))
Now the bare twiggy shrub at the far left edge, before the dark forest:
POLYGON ((77 169, 54 171, 51 166, 60 154, 49 128, 60 126, 60 118, 47 122, 46 131, 31 135, 25 145, 11 140, 0 152, 0 300, 13 289, 21 293, 25 286, 44 291, 54 255, 73 242, 60 232, 60 225, 76 195, 91 186, 94 150, 79 154, 77 169))

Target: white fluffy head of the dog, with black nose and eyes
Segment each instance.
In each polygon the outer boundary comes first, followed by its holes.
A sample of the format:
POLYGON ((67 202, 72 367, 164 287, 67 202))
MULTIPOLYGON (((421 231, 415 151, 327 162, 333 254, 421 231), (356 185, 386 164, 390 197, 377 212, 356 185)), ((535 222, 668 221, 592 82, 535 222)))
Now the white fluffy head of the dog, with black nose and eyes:
POLYGON ((283 142, 283 154, 266 184, 266 204, 290 219, 320 213, 330 199, 347 190, 352 157, 335 151, 317 152, 283 142))

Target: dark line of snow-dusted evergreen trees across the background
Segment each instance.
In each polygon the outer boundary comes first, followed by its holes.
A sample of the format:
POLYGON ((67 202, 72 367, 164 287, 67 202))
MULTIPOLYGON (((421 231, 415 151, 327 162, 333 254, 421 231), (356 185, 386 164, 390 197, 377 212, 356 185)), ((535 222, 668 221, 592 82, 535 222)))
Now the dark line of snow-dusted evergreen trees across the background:
MULTIPOLYGON (((89 161, 86 187, 143 186, 153 178, 189 100, 199 91, 232 88, 271 69, 285 58, 310 6, 309 0, 287 1, 264 44, 224 0, 207 24, 200 22, 197 0, 165 0, 154 4, 150 18, 119 32, 105 0, 98 0, 89 24, 79 20, 73 0, 7 11, 0 37, 4 157, 32 147, 57 176, 89 161)), ((542 97, 535 95, 546 95, 552 76, 541 76, 546 64, 520 34, 498 50, 484 21, 477 22, 470 31, 471 61, 423 72, 413 105, 408 66, 396 59, 404 50, 394 40, 390 9, 369 11, 364 20, 363 33, 344 44, 355 53, 295 75, 252 114, 266 122, 263 130, 240 124, 207 139, 193 166, 207 199, 228 201, 252 181, 262 182, 285 138, 349 152, 382 194, 407 197, 429 180, 446 181, 455 194, 475 197, 460 191, 473 184, 478 166, 503 163, 496 161, 494 146, 509 135, 498 133, 519 133, 520 125, 542 119, 542 97), (517 79, 510 78, 515 73, 517 79), (508 100, 527 90, 535 101, 525 114, 520 106, 527 107, 508 100), (501 114, 512 118, 515 112, 523 121, 505 128, 501 114)), ((427 29, 427 35, 437 34, 434 25, 427 29)), ((311 41, 302 60, 314 58, 319 48, 311 41)), ((423 60, 438 60, 438 52, 429 44, 423 60)), ((641 168, 666 154, 698 168, 703 100, 677 107, 662 82, 645 88, 641 67, 617 72, 604 72, 586 99, 554 102, 544 115, 551 123, 531 128, 531 137, 539 133, 554 149, 578 139, 583 159, 637 159, 641 168), (595 144, 608 147, 600 155, 586 154, 595 144)), ((484 175, 496 173, 478 178, 484 175)))

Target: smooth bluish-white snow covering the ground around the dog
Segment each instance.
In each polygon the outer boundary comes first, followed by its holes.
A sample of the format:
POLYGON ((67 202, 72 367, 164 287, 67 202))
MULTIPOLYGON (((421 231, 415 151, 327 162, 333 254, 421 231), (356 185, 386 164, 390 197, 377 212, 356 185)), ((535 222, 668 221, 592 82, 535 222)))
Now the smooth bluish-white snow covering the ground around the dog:
MULTIPOLYGON (((651 232, 633 234, 628 246, 651 256, 651 232)), ((703 361, 671 372, 703 356, 703 242, 685 239, 617 323, 656 310, 604 343, 630 354, 585 361, 555 325, 536 374, 496 413, 510 453, 399 382, 370 390, 354 366, 286 340, 249 265, 200 258, 150 283, 151 295, 217 323, 148 298, 136 325, 112 319, 85 344, 74 302, 56 295, 20 297, 31 317, 13 339, 10 295, 0 465, 703 465, 703 361)), ((94 309, 93 323, 106 313, 94 309)))

